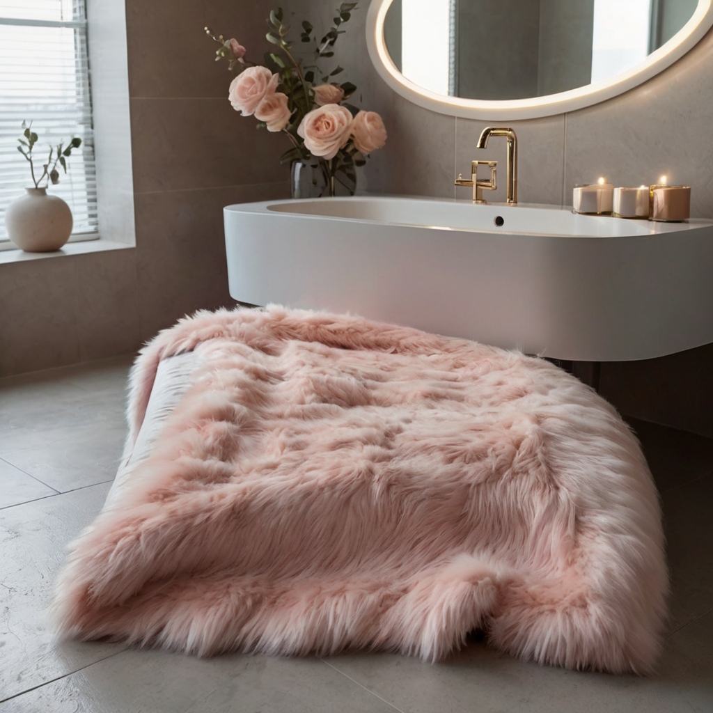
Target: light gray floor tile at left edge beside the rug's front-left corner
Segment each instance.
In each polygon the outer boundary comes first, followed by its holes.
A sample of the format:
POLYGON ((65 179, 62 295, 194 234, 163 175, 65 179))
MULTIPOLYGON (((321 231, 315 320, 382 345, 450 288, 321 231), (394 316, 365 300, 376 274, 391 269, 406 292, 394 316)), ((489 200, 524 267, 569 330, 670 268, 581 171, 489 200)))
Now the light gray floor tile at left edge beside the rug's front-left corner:
POLYGON ((44 615, 64 548, 98 513, 108 489, 94 486, 0 511, 0 699, 123 648, 57 643, 44 615))

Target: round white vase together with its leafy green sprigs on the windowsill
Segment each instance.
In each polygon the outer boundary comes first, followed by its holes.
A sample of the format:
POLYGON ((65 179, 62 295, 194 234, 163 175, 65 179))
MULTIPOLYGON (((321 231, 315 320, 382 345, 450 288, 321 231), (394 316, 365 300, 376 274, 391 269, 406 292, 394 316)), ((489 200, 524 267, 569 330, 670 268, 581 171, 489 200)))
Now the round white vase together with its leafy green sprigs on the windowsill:
POLYGON ((50 183, 59 183, 60 165, 67 172, 67 157, 73 148, 78 148, 81 138, 73 138, 65 147, 63 142, 51 146, 47 163, 43 163, 43 172, 35 176, 33 150, 39 140, 32 130, 32 125, 22 123, 24 132, 19 138, 17 150, 30 164, 30 173, 34 188, 26 188, 25 195, 16 198, 5 211, 5 227, 12 242, 26 252, 51 252, 59 250, 69 240, 73 220, 69 206, 56 195, 48 195, 50 183), (46 180, 44 185, 41 183, 46 180))

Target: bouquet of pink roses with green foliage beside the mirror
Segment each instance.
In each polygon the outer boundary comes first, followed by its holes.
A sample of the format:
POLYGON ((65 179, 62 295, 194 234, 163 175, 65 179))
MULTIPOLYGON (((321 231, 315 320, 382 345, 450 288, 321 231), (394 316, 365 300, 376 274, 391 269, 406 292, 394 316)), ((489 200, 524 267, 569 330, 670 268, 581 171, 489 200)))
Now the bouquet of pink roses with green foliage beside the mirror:
POLYGON ((379 114, 360 111, 349 103, 356 91, 350 82, 334 80, 344 69, 322 71, 319 63, 334 56, 334 43, 351 17, 356 2, 344 2, 337 9, 334 26, 317 41, 309 22, 302 23, 302 42, 314 43, 314 63, 304 66, 292 53, 294 43, 287 39, 290 27, 284 24, 282 8, 270 12, 267 40, 279 53, 265 54, 264 64, 247 59, 247 51, 236 39, 206 33, 220 44, 216 61, 227 59, 236 74, 228 98, 242 116, 255 116, 258 128, 286 133, 292 141, 281 157, 282 163, 302 161, 322 174, 325 193, 334 195, 336 184, 350 194, 356 188, 356 166, 386 142, 386 129, 379 114), (317 80, 319 79, 319 83, 317 80))

